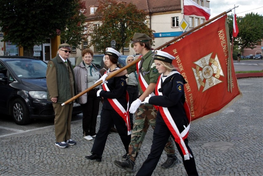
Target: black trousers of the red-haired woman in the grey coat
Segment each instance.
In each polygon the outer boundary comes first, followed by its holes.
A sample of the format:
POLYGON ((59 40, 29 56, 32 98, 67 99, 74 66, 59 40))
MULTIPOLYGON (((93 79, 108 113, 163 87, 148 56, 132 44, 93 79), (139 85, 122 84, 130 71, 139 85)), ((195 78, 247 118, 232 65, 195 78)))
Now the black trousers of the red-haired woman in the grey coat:
POLYGON ((99 97, 97 91, 92 89, 87 97, 87 103, 82 104, 82 128, 85 135, 96 135, 97 116, 99 111, 99 97))

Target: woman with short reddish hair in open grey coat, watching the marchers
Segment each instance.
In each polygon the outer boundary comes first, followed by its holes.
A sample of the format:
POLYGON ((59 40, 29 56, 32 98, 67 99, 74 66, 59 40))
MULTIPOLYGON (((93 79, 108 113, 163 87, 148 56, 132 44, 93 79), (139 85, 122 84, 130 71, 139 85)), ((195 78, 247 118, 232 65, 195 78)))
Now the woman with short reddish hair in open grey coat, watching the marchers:
MULTIPOLYGON (((83 61, 74 68, 77 93, 83 92, 85 89, 90 88, 101 77, 96 66, 91 63, 93 54, 94 53, 91 49, 83 49, 81 52, 83 61)), ((83 137, 86 140, 92 140, 92 137, 95 138, 96 136, 96 123, 100 101, 100 98, 97 97, 98 90, 99 86, 78 98, 78 102, 81 104, 83 113, 83 137)))

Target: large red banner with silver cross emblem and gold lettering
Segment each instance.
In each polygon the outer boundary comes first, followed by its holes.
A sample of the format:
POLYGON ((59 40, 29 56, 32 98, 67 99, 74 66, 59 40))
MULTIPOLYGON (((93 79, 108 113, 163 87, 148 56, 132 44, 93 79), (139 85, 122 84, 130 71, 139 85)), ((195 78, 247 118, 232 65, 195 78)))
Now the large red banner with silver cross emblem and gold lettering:
POLYGON ((186 79, 185 97, 191 119, 219 114, 242 94, 237 84, 224 15, 166 47, 173 65, 186 79))

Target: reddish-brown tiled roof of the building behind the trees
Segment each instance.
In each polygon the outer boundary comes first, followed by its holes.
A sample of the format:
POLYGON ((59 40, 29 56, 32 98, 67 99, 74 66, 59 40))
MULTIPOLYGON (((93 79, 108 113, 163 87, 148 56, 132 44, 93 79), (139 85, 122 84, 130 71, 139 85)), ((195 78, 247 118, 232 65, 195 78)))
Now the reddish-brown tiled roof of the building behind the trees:
MULTIPOLYGON (((117 0, 118 1, 118 0, 117 0)), ((158 13, 166 11, 181 10, 181 0, 121 0, 122 2, 133 3, 138 9, 147 13, 158 13)), ((82 0, 86 4, 87 19, 96 19, 96 15, 90 15, 90 6, 98 6, 98 0, 82 0)))

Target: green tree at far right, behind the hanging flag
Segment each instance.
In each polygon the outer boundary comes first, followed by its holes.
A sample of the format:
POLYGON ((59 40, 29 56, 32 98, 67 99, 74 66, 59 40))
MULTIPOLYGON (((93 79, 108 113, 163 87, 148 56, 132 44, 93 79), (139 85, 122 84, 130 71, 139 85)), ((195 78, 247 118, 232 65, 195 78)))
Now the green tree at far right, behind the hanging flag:
MULTIPOLYGON (((233 36, 233 14, 228 15, 229 20, 229 36, 232 42, 233 36)), ((243 18, 237 17, 237 26, 239 33, 234 38, 234 45, 240 47, 243 52, 244 48, 255 48, 257 41, 263 38, 263 17, 253 12, 246 14, 243 18)))

